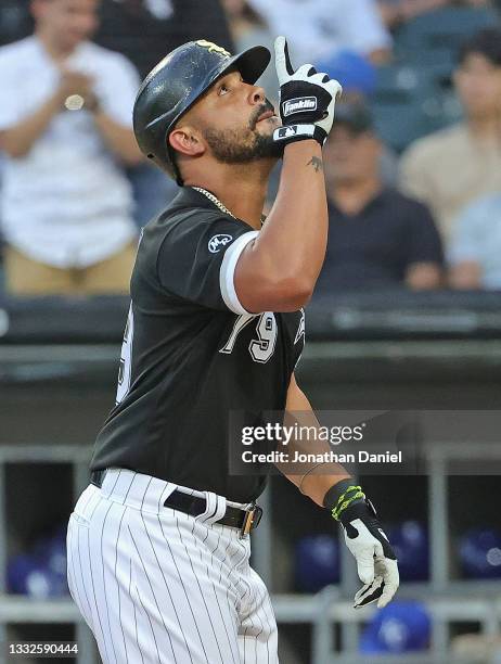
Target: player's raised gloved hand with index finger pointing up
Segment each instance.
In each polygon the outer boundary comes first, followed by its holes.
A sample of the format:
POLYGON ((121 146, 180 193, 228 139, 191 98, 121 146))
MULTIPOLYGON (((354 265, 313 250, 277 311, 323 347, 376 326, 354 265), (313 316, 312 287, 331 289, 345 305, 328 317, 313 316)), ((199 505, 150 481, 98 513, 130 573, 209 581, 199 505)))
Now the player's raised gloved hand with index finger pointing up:
MULTIPOLYGON (((274 52, 282 124, 286 127, 314 125, 320 130, 317 133, 323 143, 332 128, 336 97, 342 92, 341 85, 326 74, 318 74, 310 64, 295 72, 285 37, 277 37, 274 52)), ((287 135, 287 131, 282 133, 287 135)))

